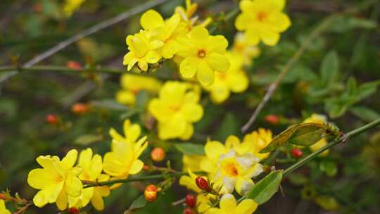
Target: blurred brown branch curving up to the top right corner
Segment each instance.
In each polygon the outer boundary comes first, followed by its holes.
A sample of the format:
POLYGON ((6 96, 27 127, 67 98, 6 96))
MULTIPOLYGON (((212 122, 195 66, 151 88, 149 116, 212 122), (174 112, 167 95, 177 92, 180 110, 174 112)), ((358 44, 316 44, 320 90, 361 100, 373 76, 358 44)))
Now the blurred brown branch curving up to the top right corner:
POLYGON ((324 30, 326 30, 327 27, 329 27, 329 25, 331 23, 333 23, 333 21, 336 20, 337 18, 340 18, 342 15, 346 15, 349 13, 357 13, 358 11, 361 11, 361 10, 367 8, 368 6, 371 6, 375 2, 376 2, 376 0, 366 1, 364 4, 360 4, 360 6, 357 6, 355 8, 350 8, 347 11, 344 11, 343 13, 329 15, 327 18, 325 18, 324 21, 322 21, 322 23, 317 28, 315 28, 315 30, 313 30, 311 32, 309 37, 307 39, 305 39, 305 42, 303 42, 303 44, 296 51, 296 53, 294 53, 293 56, 291 56, 291 58, 286 63, 284 68, 282 68, 282 70, 279 73, 279 75, 277 76, 276 80, 274 80, 274 82, 272 82, 272 84, 270 84, 270 87, 268 88, 267 93, 265 94, 264 98, 259 103, 258 107, 255 109, 253 114, 251 115, 251 118, 249 118, 248 122, 245 125, 243 125, 243 127, 241 127, 241 132, 247 132, 248 129, 251 127, 251 125, 253 125, 253 122, 255 122, 256 118, 258 117, 258 114, 260 113, 260 111, 262 111, 262 108, 264 108, 265 104, 268 101, 270 101, 270 98, 272 97, 272 95, 276 91, 277 87, 279 87, 279 84, 281 83, 281 81, 289 73, 289 71, 291 70, 293 65, 298 61, 300 56, 302 56, 302 54, 305 52, 305 50, 308 48, 308 46, 310 46, 310 44, 312 44, 312 41, 315 38, 317 38, 320 34, 322 34, 322 32, 324 32, 324 30))

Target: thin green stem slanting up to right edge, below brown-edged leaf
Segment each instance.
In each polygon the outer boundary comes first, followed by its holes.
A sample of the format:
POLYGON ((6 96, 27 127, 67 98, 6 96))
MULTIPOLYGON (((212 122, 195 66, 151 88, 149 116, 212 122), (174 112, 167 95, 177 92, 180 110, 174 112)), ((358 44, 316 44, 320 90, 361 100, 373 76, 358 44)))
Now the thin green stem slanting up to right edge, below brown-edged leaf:
POLYGON ((368 130, 372 129, 373 127, 376 127, 377 125, 380 125, 380 119, 374 120, 373 122, 368 123, 367 125, 364 125, 362 127, 357 128, 356 130, 352 130, 351 132, 348 132, 344 134, 342 137, 339 137, 338 139, 332 141, 331 143, 327 144, 326 146, 323 146, 321 149, 318 149, 317 151, 311 153, 310 155, 306 156, 302 160, 298 161, 297 163, 294 163, 289 168, 284 170, 284 176, 289 175, 289 173, 293 172, 294 170, 300 168, 302 165, 305 165, 305 163, 308 163, 310 160, 318 156, 320 153, 326 151, 327 149, 330 149, 331 147, 346 142, 351 137, 355 137, 358 134, 362 134, 363 132, 367 132, 368 130))

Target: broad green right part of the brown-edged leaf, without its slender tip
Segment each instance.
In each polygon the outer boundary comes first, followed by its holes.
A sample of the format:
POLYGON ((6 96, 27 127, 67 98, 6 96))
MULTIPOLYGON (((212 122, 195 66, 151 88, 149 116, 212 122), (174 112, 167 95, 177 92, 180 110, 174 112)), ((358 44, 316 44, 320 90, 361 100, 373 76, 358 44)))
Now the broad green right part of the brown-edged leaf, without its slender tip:
POLYGON ((302 127, 298 127, 289 138, 290 144, 299 146, 311 146, 322 139, 322 134, 327 129, 327 125, 307 123, 302 127))

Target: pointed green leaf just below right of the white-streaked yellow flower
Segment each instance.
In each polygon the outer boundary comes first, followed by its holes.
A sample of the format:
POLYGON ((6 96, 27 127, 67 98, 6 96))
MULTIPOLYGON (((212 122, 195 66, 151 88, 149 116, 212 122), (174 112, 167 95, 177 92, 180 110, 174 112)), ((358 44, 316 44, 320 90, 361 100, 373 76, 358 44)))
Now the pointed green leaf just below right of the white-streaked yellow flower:
POLYGON ((267 202, 279 189, 282 180, 282 170, 275 170, 265 176, 246 194, 247 199, 253 199, 259 205, 267 202))

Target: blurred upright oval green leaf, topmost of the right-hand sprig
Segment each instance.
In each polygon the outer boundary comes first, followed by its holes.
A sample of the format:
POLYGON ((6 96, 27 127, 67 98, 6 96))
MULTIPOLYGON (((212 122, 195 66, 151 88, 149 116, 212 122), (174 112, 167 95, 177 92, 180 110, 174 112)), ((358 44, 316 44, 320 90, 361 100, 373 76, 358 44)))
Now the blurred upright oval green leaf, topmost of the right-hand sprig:
POLYGON ((335 51, 329 51, 324 56, 320 68, 322 84, 330 86, 338 78, 339 59, 335 51))

